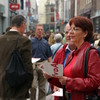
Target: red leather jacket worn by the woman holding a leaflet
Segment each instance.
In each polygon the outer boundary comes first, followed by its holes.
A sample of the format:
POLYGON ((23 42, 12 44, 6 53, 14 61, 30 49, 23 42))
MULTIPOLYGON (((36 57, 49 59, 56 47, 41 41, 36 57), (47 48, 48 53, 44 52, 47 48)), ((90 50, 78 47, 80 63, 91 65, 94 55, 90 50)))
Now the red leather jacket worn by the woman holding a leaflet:
MULTIPOLYGON (((85 52, 89 46, 90 43, 84 42, 79 49, 70 53, 67 58, 66 67, 74 55, 77 56, 72 68, 72 78, 67 77, 65 85, 66 90, 71 90, 71 100, 85 100, 84 93, 92 94, 100 86, 100 59, 95 49, 89 51, 87 77, 84 78, 83 76, 85 52)), ((52 78, 51 83, 62 87, 56 78, 52 78)), ((64 100, 66 99, 64 98, 64 100)))

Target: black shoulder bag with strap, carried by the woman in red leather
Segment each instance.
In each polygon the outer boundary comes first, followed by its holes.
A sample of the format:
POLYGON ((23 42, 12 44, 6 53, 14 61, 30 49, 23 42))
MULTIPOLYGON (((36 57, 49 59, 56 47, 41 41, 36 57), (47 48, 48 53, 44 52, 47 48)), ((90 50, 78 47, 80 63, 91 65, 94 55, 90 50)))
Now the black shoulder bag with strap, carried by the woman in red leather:
MULTIPOLYGON (((95 48, 90 46, 86 50, 85 59, 84 59, 84 78, 86 78, 86 76, 87 76, 88 54, 89 54, 90 49, 95 49, 95 48)), ((94 91, 92 96, 85 95, 85 99, 86 100, 99 100, 98 99, 98 92, 94 91)))

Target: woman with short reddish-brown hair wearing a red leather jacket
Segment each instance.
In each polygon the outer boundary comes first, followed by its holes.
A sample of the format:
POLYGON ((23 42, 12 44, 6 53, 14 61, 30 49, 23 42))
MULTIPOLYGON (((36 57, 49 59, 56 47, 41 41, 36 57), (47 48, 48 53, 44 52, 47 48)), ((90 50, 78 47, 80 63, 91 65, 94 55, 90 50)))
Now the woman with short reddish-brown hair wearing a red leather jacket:
POLYGON ((77 48, 68 55, 63 71, 64 76, 51 78, 44 74, 44 77, 48 78, 51 84, 71 91, 71 100, 86 100, 86 95, 92 96, 100 86, 100 59, 96 49, 89 51, 86 78, 83 74, 85 52, 91 46, 89 41, 93 35, 93 24, 90 19, 83 16, 72 18, 69 24, 70 38, 77 48))

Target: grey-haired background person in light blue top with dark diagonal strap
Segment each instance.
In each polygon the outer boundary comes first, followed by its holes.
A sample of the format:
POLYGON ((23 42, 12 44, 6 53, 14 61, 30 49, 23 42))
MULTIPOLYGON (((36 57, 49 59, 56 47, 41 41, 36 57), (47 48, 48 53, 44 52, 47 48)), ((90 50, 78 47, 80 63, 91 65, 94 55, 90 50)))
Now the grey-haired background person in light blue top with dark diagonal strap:
POLYGON ((54 35, 55 44, 51 46, 52 59, 54 59, 56 52, 63 46, 62 35, 60 33, 54 35))

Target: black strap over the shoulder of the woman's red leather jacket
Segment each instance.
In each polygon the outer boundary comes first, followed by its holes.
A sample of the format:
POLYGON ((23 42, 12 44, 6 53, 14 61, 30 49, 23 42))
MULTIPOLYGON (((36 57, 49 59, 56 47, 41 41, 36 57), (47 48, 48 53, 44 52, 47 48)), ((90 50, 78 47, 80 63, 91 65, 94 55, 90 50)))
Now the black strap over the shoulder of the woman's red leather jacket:
POLYGON ((86 78, 87 76, 87 65, 88 65, 88 54, 89 54, 89 51, 90 49, 95 49, 93 46, 90 46, 87 50, 86 50, 86 53, 85 53, 85 58, 84 58, 84 78, 86 78))

